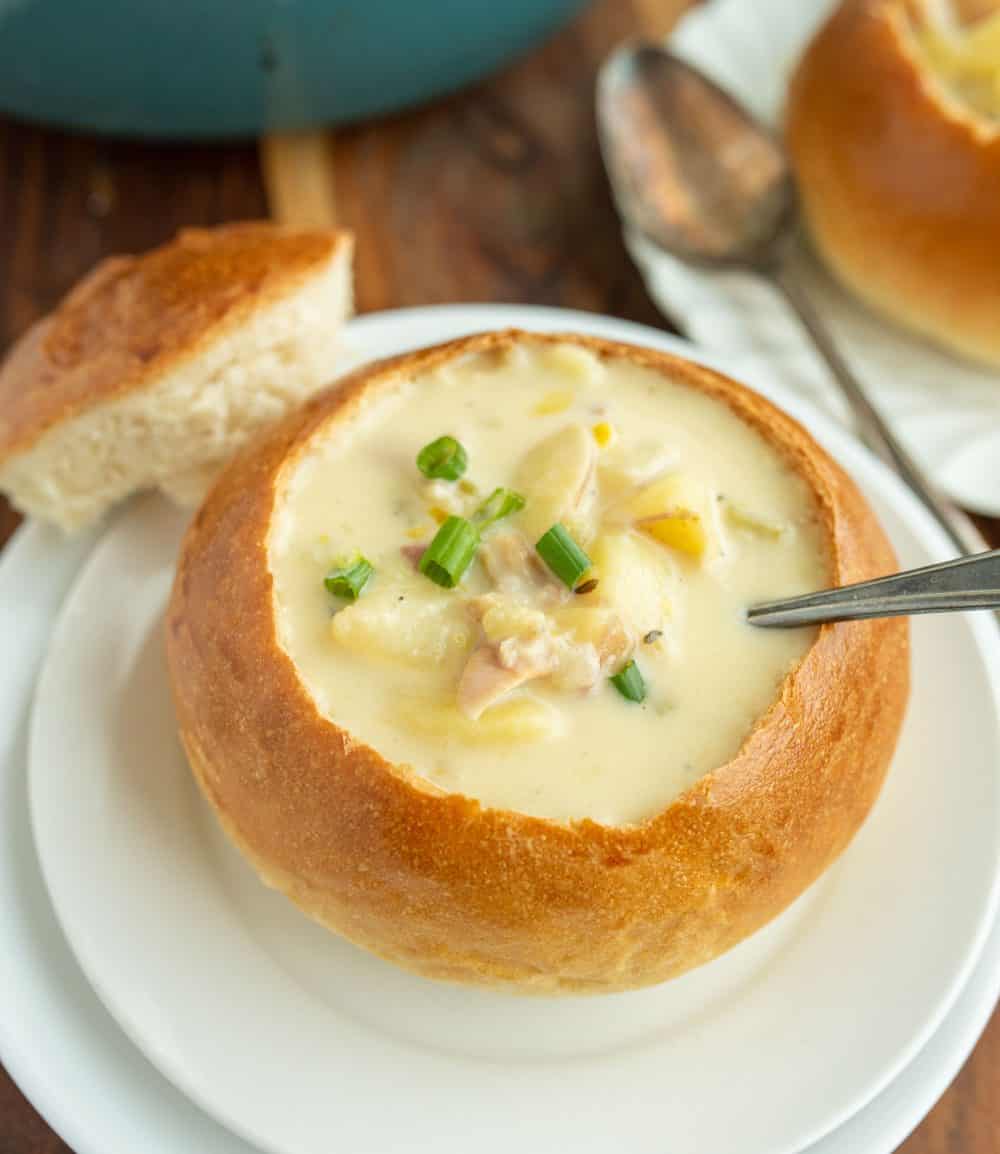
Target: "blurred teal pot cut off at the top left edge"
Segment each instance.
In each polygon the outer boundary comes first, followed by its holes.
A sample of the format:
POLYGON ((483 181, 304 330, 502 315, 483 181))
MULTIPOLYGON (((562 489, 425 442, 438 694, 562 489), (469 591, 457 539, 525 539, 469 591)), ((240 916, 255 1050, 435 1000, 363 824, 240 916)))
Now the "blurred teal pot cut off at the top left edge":
POLYGON ((116 135, 242 136, 428 100, 585 0, 0 0, 0 110, 116 135))

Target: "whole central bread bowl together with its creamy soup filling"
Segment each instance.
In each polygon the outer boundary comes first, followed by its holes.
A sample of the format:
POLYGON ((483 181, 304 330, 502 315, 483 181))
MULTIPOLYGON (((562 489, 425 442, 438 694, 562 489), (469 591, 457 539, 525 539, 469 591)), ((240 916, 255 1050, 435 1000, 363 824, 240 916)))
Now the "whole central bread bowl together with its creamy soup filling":
MULTIPOLYGON (((594 338, 469 337, 359 370, 223 474, 186 535, 167 612, 179 732, 261 878, 358 945, 518 992, 660 982, 753 932, 830 864, 878 795, 905 707, 903 621, 765 636, 739 605, 893 567, 854 484, 739 384, 594 338), (582 469, 566 432, 580 425, 595 445, 582 469), (460 478, 418 472, 434 432, 465 447, 460 478), (559 488, 554 474, 573 479, 559 488), (471 479, 479 493, 461 487, 471 479), (677 479, 683 500, 651 515, 651 492, 677 479), (434 524, 435 505, 474 520, 484 493, 514 482, 526 503, 480 522, 459 584, 430 582, 421 569, 449 524, 434 524), (588 580, 566 585, 524 548, 550 518, 593 554, 588 580), (609 535, 633 552, 609 552, 609 535), (354 601, 332 597, 324 576, 332 564, 344 579, 355 549, 374 580, 354 601), (636 549, 648 565, 623 582, 636 549), (630 639, 611 642, 611 664, 595 643, 589 691, 576 667, 556 683, 548 666, 479 710, 463 684, 502 644, 481 604, 503 608, 498 595, 552 616, 621 609, 630 639), (642 704, 609 684, 629 660, 648 682, 642 704), (582 765, 578 728, 610 749, 582 765), (441 765, 421 762, 428 749, 441 765)), ((525 639, 517 627, 507 637, 525 639)))

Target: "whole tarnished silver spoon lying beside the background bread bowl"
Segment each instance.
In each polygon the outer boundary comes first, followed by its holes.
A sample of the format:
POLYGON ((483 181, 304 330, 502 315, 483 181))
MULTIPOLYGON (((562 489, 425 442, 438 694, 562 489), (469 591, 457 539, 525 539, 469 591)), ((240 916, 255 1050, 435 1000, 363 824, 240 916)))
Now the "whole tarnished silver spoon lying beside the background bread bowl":
POLYGON ((860 439, 903 478, 960 553, 986 548, 900 444, 791 272, 798 198, 784 150, 706 76, 655 44, 625 45, 597 78, 597 129, 624 220, 660 248, 707 268, 766 277, 812 337, 860 439))

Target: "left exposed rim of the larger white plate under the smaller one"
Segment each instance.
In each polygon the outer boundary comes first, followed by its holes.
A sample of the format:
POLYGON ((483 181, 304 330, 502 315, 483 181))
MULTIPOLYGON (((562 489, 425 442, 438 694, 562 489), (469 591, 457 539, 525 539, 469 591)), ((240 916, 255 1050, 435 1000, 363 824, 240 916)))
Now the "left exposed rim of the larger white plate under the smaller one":
POLYGON ((28 711, 52 623, 96 534, 37 524, 0 556, 0 1057, 77 1154, 253 1154, 127 1041, 57 924, 28 824, 28 711))

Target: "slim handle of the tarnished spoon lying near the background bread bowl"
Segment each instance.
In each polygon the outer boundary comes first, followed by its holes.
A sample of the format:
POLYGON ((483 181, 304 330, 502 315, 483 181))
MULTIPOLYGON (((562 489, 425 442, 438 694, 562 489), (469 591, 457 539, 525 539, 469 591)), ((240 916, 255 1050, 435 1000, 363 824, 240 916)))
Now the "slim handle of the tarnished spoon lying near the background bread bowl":
POLYGON ((870 400, 864 385, 844 360, 826 322, 820 317, 809 294, 796 277, 789 272, 787 265, 780 265, 772 270, 770 276, 840 385, 854 413, 855 425, 862 441, 895 469, 948 534, 948 539, 958 553, 970 554, 985 549, 986 541, 972 522, 934 490, 920 467, 896 440, 881 413, 870 400))

